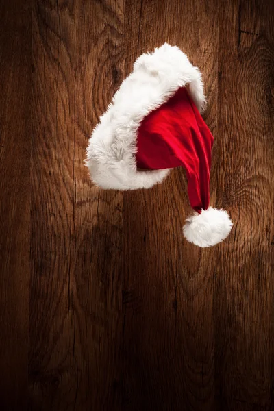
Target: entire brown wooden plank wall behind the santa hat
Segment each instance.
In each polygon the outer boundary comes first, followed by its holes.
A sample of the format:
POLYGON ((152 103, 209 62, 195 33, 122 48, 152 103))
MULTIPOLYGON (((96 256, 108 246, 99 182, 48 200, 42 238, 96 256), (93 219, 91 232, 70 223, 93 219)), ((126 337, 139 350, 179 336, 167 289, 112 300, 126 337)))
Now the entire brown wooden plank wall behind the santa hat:
POLYGON ((0 409, 274 410, 274 3, 0 3, 0 409), (184 170, 103 191, 88 136, 140 53, 203 73, 211 199, 182 235, 184 170))

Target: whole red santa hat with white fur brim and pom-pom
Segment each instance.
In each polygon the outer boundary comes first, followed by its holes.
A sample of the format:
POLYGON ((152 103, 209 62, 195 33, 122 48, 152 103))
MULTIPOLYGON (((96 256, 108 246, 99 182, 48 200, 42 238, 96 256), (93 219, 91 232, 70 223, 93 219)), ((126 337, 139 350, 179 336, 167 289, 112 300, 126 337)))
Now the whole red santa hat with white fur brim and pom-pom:
POLYGON ((150 188, 184 166, 194 213, 184 236, 199 247, 224 240, 232 221, 209 207, 213 136, 201 117, 203 82, 186 54, 168 44, 134 63, 89 140, 87 165, 105 189, 150 188))

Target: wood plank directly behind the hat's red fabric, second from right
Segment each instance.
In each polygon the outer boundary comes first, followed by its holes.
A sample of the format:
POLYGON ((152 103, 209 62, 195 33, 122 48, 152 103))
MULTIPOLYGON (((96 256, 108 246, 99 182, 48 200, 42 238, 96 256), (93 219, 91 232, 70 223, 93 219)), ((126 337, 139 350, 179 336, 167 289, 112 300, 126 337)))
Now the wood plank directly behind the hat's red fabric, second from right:
MULTIPOLYGON (((214 134, 216 1, 127 1, 127 18, 128 71, 140 53, 165 41, 181 47, 203 72, 205 118, 214 134), (194 21, 201 22, 199 29, 194 21)), ((215 191, 213 186, 212 199, 215 191)), ((190 212, 183 169, 161 186, 124 195, 125 410, 214 406, 216 248, 186 242, 182 227, 190 212)))

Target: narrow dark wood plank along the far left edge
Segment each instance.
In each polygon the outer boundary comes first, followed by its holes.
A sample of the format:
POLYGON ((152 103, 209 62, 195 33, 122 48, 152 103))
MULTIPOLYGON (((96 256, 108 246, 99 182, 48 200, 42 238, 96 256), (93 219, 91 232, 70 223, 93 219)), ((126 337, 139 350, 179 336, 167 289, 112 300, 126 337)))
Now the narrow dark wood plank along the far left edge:
POLYGON ((27 406, 30 1, 0 4, 0 408, 27 406))

